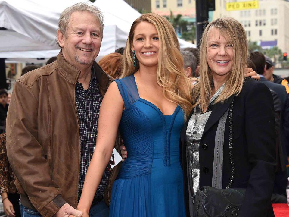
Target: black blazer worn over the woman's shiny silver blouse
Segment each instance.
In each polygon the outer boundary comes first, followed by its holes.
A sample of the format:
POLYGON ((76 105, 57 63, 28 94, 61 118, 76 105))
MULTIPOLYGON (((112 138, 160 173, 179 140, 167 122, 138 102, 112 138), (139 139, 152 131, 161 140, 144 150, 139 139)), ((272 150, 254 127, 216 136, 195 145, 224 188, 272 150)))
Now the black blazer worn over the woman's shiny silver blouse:
MULTIPOLYGON (((247 188, 241 208, 242 217, 274 216, 271 195, 275 166, 275 118, 273 99, 266 85, 253 78, 246 78, 241 93, 231 96, 224 103, 213 105, 200 141, 200 187, 212 186, 215 135, 219 119, 234 99, 232 112, 232 152, 235 176, 231 187, 247 188), (206 144, 205 149, 203 148, 206 144), (204 169, 204 168, 208 168, 204 169)), ((184 174, 186 214, 189 216, 187 158, 185 134, 188 117, 181 133, 181 161, 184 174)), ((231 178, 229 159, 229 118, 224 135, 223 188, 231 178)))

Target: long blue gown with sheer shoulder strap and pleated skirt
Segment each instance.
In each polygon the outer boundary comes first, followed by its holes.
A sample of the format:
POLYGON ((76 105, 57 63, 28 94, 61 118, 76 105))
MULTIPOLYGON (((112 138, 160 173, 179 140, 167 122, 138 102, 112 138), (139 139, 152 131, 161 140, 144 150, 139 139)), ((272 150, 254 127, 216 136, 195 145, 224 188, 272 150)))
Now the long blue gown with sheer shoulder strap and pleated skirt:
POLYGON ((120 132, 128 158, 113 183, 110 217, 185 216, 179 137, 184 112, 163 115, 138 95, 134 75, 117 79, 125 110, 120 132))

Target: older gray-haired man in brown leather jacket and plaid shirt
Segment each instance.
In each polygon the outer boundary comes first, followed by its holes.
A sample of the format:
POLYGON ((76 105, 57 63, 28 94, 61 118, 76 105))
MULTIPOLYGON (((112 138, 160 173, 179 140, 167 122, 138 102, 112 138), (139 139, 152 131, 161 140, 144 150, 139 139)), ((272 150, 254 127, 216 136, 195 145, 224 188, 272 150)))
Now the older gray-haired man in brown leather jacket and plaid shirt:
MULTIPOLYGON (((104 28, 98 8, 73 5, 58 25, 57 60, 16 81, 8 110, 7 154, 22 216, 82 216, 74 208, 92 158, 101 100, 113 81, 94 61, 104 28)), ((91 217, 108 216, 103 197, 108 203, 107 182, 117 169, 104 172, 91 217)))

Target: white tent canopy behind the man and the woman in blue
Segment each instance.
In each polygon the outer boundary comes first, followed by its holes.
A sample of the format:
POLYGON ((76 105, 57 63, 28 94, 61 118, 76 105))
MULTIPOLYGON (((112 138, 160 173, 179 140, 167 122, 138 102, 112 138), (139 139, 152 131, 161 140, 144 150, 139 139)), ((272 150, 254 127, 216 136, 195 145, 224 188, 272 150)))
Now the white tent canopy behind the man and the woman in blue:
MULTIPOLYGON (((81 0, 0 0, 0 58, 50 58, 59 48, 55 42, 61 12, 81 0)), ((132 22, 140 16, 123 0, 96 0, 104 15, 104 38, 99 57, 125 46, 132 22)), ((182 47, 194 44, 179 39, 182 47)))

